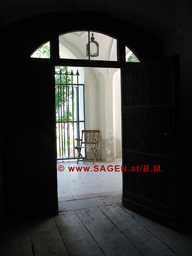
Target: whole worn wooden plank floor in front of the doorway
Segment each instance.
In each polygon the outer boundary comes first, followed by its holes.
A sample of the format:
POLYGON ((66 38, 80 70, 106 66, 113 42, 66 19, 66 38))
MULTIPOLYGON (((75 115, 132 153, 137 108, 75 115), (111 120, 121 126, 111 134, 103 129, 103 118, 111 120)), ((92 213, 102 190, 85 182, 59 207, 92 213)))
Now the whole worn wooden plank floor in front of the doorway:
POLYGON ((192 256, 191 240, 122 204, 68 211, 29 222, 11 219, 0 231, 0 256, 173 256, 173 251, 192 256))

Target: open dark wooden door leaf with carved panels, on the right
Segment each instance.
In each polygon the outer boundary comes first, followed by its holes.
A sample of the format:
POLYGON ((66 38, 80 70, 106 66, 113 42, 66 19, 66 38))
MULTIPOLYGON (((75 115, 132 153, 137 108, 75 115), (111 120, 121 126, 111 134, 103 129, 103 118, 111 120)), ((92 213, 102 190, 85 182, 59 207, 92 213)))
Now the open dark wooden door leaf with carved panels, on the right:
POLYGON ((178 56, 121 69, 123 165, 127 165, 123 205, 169 226, 176 223, 178 79, 178 56))

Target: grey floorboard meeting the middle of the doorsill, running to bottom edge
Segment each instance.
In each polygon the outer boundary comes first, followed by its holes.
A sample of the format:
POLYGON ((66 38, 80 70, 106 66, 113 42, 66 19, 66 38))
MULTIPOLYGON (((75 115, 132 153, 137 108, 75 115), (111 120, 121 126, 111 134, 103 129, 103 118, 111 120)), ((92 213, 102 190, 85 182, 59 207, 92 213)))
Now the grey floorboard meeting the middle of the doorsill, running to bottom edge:
POLYGON ((106 256, 142 255, 98 207, 75 211, 106 256))

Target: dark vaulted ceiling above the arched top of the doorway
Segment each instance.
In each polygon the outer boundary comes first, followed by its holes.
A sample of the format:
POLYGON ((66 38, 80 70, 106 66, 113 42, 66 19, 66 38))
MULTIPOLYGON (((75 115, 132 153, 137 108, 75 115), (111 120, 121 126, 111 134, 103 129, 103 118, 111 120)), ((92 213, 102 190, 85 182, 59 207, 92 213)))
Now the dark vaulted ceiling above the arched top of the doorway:
MULTIPOLYGON (((174 23, 174 0, 1 0, 0 26, 40 14, 63 11, 102 12, 165 37, 174 23)), ((178 9, 178 8, 177 8, 178 9)))

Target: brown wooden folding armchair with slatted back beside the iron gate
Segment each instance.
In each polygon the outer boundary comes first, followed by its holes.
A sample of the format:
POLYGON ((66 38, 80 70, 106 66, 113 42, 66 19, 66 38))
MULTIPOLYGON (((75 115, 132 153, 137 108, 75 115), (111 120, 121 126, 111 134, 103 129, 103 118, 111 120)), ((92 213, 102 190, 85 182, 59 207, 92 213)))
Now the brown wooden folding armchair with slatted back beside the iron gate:
POLYGON ((99 143, 99 130, 82 130, 82 138, 81 139, 76 139, 77 140, 77 146, 75 147, 76 150, 79 153, 77 163, 79 161, 93 161, 93 164, 95 164, 95 160, 97 160, 97 150, 98 150, 98 143, 99 143), (95 138, 96 137, 96 138, 95 138), (84 144, 84 146, 82 146, 84 144), (92 146, 91 146, 92 144, 92 146), (88 146, 86 146, 88 145, 88 146), (94 154, 94 159, 90 158, 85 158, 81 154, 82 148, 91 148, 93 154, 94 154))

